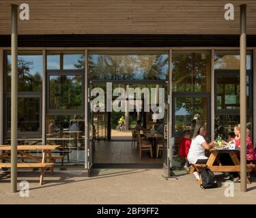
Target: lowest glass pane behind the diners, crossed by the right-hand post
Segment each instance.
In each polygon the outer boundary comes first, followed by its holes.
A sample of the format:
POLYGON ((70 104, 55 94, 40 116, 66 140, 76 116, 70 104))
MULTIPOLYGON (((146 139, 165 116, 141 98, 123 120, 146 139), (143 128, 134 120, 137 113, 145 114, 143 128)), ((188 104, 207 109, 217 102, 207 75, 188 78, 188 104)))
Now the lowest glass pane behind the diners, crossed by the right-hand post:
MULTIPOLYGON (((227 140, 229 133, 233 132, 236 124, 240 123, 240 115, 216 115, 214 120, 214 138, 220 135, 227 140)), ((250 130, 249 136, 252 138, 252 116, 247 116, 246 127, 250 130)))

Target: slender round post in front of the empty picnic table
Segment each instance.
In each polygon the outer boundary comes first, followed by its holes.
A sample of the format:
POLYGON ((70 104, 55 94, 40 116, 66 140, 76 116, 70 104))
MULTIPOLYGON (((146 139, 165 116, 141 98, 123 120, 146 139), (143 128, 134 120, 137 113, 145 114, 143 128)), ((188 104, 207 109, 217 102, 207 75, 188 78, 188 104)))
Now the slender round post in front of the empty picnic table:
POLYGON ((11 90, 11 191, 17 191, 17 120, 18 120, 18 5, 12 5, 12 90, 11 90))

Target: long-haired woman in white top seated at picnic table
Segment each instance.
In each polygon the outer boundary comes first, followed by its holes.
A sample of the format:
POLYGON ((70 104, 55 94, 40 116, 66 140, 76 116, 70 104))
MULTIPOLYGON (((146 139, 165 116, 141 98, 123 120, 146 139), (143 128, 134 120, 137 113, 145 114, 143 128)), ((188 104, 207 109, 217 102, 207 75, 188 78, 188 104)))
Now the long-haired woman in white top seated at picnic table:
POLYGON ((205 136, 206 131, 204 127, 200 126, 196 129, 188 151, 189 163, 206 163, 208 161, 208 157, 205 156, 205 149, 212 149, 214 143, 210 142, 208 144, 204 139, 205 136))

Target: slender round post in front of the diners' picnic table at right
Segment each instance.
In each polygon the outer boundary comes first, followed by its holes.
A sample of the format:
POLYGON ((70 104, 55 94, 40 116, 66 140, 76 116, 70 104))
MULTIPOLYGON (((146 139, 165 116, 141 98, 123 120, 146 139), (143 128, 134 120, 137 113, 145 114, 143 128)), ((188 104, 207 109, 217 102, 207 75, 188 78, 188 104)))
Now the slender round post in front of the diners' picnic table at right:
POLYGON ((246 191, 246 5, 240 5, 240 190, 246 191))

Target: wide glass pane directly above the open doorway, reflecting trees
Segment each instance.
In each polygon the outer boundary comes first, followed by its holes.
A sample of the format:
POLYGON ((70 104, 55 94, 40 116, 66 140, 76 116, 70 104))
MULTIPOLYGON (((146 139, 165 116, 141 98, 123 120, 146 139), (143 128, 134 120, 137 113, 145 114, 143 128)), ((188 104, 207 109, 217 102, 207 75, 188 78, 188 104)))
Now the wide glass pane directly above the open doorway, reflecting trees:
POLYGON ((91 80, 167 80, 168 55, 89 55, 91 80))

